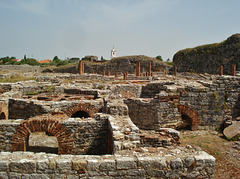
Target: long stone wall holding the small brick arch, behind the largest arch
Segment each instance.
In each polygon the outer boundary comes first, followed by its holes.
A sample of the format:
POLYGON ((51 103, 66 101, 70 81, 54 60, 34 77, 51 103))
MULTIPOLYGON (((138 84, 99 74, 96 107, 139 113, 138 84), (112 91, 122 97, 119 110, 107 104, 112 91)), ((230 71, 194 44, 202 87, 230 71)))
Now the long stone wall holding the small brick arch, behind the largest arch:
POLYGON ((77 111, 85 111, 93 114, 98 112, 102 106, 103 102, 101 99, 94 101, 40 101, 31 99, 9 99, 9 119, 28 119, 33 116, 52 113, 56 109, 63 111, 69 117, 71 117, 73 112, 77 111))

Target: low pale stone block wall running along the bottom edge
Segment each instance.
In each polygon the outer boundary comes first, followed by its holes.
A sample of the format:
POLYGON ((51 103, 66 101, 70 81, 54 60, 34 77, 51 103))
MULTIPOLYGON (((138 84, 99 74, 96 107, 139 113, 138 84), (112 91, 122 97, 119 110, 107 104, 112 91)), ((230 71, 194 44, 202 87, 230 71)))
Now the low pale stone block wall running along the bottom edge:
POLYGON ((0 178, 213 178, 215 158, 191 156, 85 156, 1 152, 0 178))

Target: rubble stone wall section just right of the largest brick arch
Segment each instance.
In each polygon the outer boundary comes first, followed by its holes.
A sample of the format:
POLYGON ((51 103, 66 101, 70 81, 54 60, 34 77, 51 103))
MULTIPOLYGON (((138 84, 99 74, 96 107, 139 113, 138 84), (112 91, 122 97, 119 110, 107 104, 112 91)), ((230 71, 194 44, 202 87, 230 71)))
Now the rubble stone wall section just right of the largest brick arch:
POLYGON ((74 139, 72 154, 103 155, 108 153, 108 123, 107 120, 70 118, 63 121, 67 131, 74 139))

